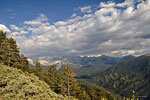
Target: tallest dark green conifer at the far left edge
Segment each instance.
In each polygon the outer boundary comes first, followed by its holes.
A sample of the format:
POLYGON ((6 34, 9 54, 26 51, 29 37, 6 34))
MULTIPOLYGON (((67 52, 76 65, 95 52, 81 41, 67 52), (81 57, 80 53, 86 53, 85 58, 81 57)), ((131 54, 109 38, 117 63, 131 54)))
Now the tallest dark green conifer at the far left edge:
POLYGON ((17 67, 20 55, 19 48, 13 38, 7 38, 6 33, 0 31, 0 62, 9 67, 17 67))

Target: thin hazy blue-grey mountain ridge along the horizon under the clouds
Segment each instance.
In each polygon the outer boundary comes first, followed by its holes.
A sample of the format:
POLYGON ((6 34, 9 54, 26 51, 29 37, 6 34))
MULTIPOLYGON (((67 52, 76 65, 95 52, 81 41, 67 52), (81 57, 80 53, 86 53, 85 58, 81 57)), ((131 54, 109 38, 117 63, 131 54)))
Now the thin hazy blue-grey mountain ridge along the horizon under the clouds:
POLYGON ((110 57, 110 56, 98 56, 98 57, 89 57, 89 56, 70 56, 70 57, 40 57, 40 58, 33 58, 29 59, 30 64, 35 64, 38 60, 42 65, 49 66, 51 64, 77 64, 77 65, 85 65, 89 62, 99 62, 106 65, 113 65, 119 63, 121 61, 125 61, 128 59, 132 59, 134 56, 128 55, 124 57, 110 57))

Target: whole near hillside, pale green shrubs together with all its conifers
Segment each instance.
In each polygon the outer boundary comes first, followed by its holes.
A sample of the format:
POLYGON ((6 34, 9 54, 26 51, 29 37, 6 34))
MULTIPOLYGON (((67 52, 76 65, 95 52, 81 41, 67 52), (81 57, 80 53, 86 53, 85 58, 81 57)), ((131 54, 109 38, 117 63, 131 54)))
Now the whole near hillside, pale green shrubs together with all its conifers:
MULTIPOLYGON (((51 90, 63 97, 67 96, 67 99, 70 100, 71 98, 79 100, 100 100, 102 98, 117 100, 119 98, 102 88, 87 83, 83 84, 83 82, 79 84, 80 82, 74 78, 75 75, 69 65, 65 66, 60 74, 54 65, 44 70, 39 61, 31 68, 27 57, 20 54, 16 41, 13 38, 7 38, 6 33, 2 31, 0 31, 0 63, 0 95, 4 100, 17 97, 23 100, 38 98, 38 91, 43 91, 45 86, 47 88, 49 86, 51 90), (29 87, 25 88, 26 85, 29 87)), ((47 97, 51 98, 50 95, 47 95, 49 92, 50 90, 40 92, 41 95, 44 95, 41 96, 42 100, 48 100, 47 97)), ((38 99, 41 100, 40 97, 38 99)), ((57 99, 60 99, 59 96, 57 99)))

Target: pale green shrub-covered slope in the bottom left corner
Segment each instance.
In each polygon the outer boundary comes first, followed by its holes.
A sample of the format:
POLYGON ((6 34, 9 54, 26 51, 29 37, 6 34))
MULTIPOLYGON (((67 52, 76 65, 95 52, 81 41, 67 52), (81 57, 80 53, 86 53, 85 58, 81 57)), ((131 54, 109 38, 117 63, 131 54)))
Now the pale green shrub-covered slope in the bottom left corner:
POLYGON ((3 100, 67 100, 33 74, 4 65, 0 65, 0 94, 3 100))

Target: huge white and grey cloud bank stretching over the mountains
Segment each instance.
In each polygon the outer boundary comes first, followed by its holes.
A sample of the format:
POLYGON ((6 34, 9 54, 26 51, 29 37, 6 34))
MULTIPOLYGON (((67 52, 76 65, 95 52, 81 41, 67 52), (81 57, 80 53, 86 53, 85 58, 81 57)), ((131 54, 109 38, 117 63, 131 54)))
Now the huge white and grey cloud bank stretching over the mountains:
MULTIPOLYGON (((12 36, 28 57, 148 53, 150 2, 139 0, 135 4, 135 0, 119 4, 103 2, 94 13, 75 15, 54 24, 40 14, 34 20, 24 21, 23 30, 11 25, 12 36), (21 31, 24 34, 19 34, 21 31)), ((82 8, 87 9, 91 7, 82 8)))

